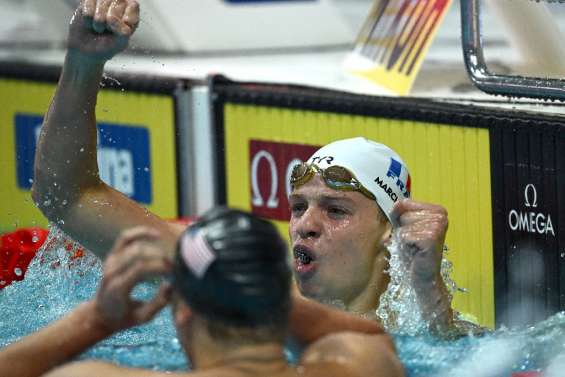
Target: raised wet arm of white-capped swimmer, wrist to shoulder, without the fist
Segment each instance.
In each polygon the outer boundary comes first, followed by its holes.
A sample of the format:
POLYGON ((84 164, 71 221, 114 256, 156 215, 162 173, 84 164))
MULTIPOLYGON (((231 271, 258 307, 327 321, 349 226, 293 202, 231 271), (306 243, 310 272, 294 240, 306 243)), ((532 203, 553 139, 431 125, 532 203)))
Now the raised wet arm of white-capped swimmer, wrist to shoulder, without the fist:
POLYGON ((122 230, 138 225, 158 229, 173 250, 180 229, 99 177, 95 106, 103 66, 69 51, 38 143, 34 200, 50 221, 101 257, 122 230))

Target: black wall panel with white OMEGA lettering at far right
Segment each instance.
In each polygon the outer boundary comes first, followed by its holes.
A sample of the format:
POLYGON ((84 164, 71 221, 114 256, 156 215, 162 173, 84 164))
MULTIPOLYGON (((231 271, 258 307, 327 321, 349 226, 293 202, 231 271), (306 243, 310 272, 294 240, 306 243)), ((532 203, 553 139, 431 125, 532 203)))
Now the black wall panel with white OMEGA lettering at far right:
POLYGON ((565 309, 565 140, 557 127, 493 130, 496 319, 522 326, 565 309))

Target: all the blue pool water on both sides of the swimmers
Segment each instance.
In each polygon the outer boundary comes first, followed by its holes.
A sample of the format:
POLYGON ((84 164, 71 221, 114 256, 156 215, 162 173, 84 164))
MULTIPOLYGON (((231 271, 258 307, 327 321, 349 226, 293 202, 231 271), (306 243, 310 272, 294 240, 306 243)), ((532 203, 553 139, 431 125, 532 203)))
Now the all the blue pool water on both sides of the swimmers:
MULTIPOLYGON (((41 250, 25 280, 0 291, 0 347, 60 318, 96 291, 101 277, 97 258, 70 260, 63 235, 51 232, 50 250, 41 250)), ((155 284, 136 287, 149 299, 155 284)), ((547 377, 565 375, 565 314, 536 326, 499 330, 482 337, 439 341, 429 336, 394 336, 399 357, 411 377, 507 377, 512 371, 548 368, 547 377), (558 357, 562 355, 561 357, 558 357), (554 371, 554 372, 552 372, 554 371)), ((88 350, 81 358, 155 370, 186 370, 189 364, 176 338, 170 310, 150 323, 124 331, 88 350)))

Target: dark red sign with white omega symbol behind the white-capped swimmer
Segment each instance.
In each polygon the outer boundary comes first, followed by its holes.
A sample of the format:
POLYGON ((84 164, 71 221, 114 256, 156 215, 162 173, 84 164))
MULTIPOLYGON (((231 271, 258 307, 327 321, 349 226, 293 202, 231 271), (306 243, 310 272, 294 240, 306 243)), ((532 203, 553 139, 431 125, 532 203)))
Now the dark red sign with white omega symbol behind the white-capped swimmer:
POLYGON ((294 165, 306 161, 318 146, 250 140, 251 209, 272 220, 288 221, 290 175, 294 165))

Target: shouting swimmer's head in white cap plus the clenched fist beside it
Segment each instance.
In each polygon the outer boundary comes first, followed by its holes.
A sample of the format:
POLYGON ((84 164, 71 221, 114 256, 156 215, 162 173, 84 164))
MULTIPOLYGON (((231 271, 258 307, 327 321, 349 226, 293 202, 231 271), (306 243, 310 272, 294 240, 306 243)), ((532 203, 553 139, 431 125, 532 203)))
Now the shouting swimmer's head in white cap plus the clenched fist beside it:
MULTIPOLYGON (((441 275, 447 212, 410 198, 411 178, 389 147, 357 137, 330 143, 291 175, 290 238, 300 292, 375 317, 398 232, 413 255, 411 282, 432 333, 460 333, 441 275)), ((465 332, 468 327, 465 327, 465 332)))

